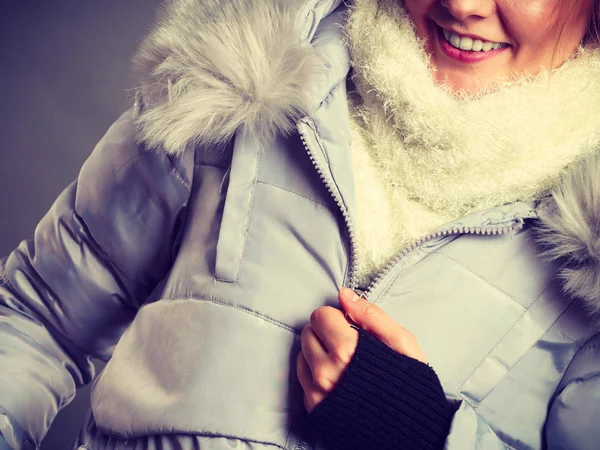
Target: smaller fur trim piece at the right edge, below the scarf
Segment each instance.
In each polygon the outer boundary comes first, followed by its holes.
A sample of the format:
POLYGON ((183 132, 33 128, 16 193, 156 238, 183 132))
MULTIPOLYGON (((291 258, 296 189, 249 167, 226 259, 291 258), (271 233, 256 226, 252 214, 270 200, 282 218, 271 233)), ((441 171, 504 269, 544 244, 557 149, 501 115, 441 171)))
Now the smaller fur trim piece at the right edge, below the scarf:
POLYGON ((600 323, 600 154, 562 180, 551 204, 536 227, 542 257, 558 266, 563 291, 600 323))

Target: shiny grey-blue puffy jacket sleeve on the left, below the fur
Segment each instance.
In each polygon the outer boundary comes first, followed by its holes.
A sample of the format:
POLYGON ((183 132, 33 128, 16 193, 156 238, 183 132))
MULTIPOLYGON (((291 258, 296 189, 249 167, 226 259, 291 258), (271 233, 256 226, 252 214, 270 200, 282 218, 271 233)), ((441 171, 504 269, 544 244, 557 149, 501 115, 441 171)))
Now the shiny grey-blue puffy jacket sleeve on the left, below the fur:
POLYGON ((110 358, 166 274, 193 159, 136 144, 132 113, 109 129, 33 239, 0 259, 0 448, 36 448, 91 357, 110 358))

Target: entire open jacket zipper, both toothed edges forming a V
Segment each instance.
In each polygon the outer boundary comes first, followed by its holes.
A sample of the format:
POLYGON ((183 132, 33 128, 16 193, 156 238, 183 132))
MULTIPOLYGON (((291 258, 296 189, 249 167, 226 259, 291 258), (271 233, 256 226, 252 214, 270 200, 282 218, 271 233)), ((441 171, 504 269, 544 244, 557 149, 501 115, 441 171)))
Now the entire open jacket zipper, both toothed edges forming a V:
MULTIPOLYGON (((311 129, 313 128, 310 126, 310 123, 312 122, 310 119, 300 120, 299 124, 302 122, 304 122, 311 129)), ((314 125, 314 122, 312 122, 312 124, 314 125)), ((306 152, 308 153, 308 157, 310 158, 311 163, 317 170, 319 177, 325 184, 327 190, 329 191, 333 200, 335 201, 338 208, 340 209, 342 216, 344 217, 344 222, 346 223, 346 229, 347 229, 348 235, 350 237, 350 265, 348 268, 348 273, 349 273, 348 278, 349 278, 350 283, 349 283, 348 287, 350 289, 354 290, 356 293, 358 293, 361 297, 364 297, 366 300, 369 300, 369 296, 371 294, 373 294, 373 292, 375 291, 377 286, 385 279, 385 277, 392 271, 392 269, 403 258, 405 258, 413 250, 417 249, 418 247, 421 247, 422 245, 426 244, 429 241, 432 241, 434 239, 440 239, 440 238, 443 238, 446 236, 451 236, 454 234, 477 234, 477 235, 482 235, 482 236, 500 236, 500 235, 508 234, 510 232, 519 231, 524 226, 523 219, 519 219, 516 222, 513 222, 513 223, 511 223, 509 225, 505 225, 505 226, 498 226, 498 225, 481 226, 481 227, 455 226, 455 227, 447 228, 447 229, 441 230, 441 231, 434 231, 433 233, 425 235, 425 236, 421 237, 420 239, 416 240, 408 247, 405 247, 404 250, 402 250, 402 252, 399 255, 394 257, 394 259, 392 259, 377 274, 377 276, 371 281, 371 283, 369 284, 369 286, 367 287, 366 290, 364 290, 364 291, 359 290, 357 287, 357 281, 356 281, 356 267, 358 265, 357 252, 356 252, 356 248, 357 248, 356 230, 354 228, 352 218, 350 217, 348 208, 346 208, 346 205, 344 205, 344 201, 343 201, 341 195, 339 194, 337 189, 334 187, 333 177, 331 177, 331 175, 327 174, 327 171, 321 166, 321 164, 317 160, 316 153, 311 148, 311 146, 306 138, 306 135, 301 130, 300 125, 298 125, 298 132, 300 134, 300 139, 302 140, 302 144, 304 145, 304 148, 306 149, 306 152)), ((515 219, 513 219, 513 220, 515 220, 515 219)))

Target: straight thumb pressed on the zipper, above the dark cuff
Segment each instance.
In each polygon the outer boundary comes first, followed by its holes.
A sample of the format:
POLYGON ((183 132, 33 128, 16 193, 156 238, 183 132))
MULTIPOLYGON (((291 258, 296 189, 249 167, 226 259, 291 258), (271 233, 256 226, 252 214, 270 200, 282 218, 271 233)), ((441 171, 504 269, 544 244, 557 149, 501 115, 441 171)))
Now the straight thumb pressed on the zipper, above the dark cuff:
POLYGON ((340 289, 338 298, 344 311, 359 327, 398 353, 425 362, 425 355, 412 333, 401 327, 379 306, 348 288, 340 289))

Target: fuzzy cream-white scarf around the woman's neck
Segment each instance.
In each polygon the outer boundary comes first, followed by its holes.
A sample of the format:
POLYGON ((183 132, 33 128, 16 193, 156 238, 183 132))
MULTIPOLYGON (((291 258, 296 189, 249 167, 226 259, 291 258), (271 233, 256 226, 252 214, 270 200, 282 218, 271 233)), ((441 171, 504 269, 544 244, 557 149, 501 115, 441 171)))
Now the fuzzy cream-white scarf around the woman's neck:
POLYGON ((600 54, 477 98, 436 85, 398 0, 355 0, 346 25, 362 284, 418 237, 531 200, 600 146, 600 54))

